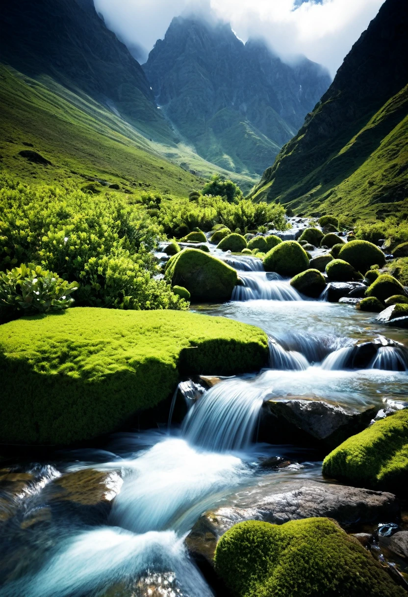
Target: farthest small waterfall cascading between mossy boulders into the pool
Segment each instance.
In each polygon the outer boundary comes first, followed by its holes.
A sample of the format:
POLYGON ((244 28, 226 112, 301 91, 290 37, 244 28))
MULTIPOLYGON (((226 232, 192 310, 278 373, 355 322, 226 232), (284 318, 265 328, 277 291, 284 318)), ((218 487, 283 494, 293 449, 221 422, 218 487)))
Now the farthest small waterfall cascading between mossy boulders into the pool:
POLYGON ((237 301, 253 300, 302 300, 299 293, 289 282, 284 281, 278 274, 274 279, 268 278, 265 272, 240 272, 243 286, 234 287, 231 299, 237 301))

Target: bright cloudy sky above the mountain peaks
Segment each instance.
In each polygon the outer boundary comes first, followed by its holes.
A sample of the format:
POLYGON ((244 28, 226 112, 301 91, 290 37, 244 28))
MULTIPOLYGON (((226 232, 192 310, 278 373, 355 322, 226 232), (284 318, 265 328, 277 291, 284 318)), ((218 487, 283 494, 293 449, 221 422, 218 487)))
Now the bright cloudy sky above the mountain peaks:
POLYGON ((94 0, 107 26, 144 62, 173 17, 230 23, 244 42, 264 38, 283 59, 304 54, 332 76, 384 0, 94 0))

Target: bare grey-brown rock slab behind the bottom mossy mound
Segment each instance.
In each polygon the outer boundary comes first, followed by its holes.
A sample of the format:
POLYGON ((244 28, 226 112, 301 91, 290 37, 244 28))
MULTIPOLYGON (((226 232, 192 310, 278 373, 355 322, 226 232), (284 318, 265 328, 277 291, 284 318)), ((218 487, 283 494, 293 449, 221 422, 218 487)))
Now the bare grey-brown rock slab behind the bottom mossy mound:
MULTIPOLYGON (((246 507, 220 507, 205 512, 186 538, 194 558, 211 562, 218 539, 237 522, 258 520, 283 524, 291 520, 327 516, 342 527, 368 524, 398 517, 397 498, 384 491, 308 481, 294 482, 277 493, 276 485, 265 484, 255 491, 254 501, 246 507)), ((407 533, 408 534, 408 533, 407 533)))

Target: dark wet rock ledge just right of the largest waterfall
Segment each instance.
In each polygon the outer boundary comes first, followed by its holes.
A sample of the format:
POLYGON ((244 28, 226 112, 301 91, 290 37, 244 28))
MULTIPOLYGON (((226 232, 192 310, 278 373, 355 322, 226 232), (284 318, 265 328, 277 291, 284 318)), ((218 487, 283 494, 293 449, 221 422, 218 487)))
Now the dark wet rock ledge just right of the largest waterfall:
POLYGON ((323 442, 336 447, 365 429, 375 414, 375 407, 358 411, 317 396, 270 399, 262 405, 258 437, 271 444, 323 442))

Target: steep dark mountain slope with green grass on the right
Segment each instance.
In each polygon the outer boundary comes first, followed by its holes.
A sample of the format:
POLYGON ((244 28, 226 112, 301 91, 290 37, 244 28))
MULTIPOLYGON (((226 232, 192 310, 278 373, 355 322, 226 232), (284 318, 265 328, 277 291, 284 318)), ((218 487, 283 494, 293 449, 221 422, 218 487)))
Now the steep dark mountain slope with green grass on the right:
POLYGON ((408 3, 386 0, 251 196, 296 212, 408 208, 408 3))

